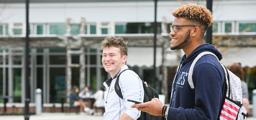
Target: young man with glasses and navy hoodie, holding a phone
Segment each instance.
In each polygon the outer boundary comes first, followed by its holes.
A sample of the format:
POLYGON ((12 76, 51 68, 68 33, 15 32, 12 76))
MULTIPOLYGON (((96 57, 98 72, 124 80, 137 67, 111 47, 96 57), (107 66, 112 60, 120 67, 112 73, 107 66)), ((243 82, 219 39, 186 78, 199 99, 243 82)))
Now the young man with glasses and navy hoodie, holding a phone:
POLYGON ((192 73, 195 92, 188 83, 190 66, 198 54, 208 51, 222 59, 213 45, 203 42, 204 33, 212 23, 211 12, 201 5, 187 4, 181 5, 172 15, 175 19, 170 25, 170 48, 182 49, 185 55, 173 80, 170 105, 164 107, 159 99, 154 98, 131 107, 164 116, 167 120, 217 120, 225 88, 224 72, 219 61, 212 55, 200 58, 192 73))

